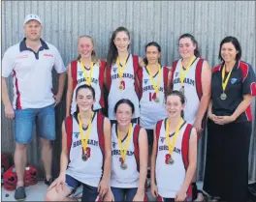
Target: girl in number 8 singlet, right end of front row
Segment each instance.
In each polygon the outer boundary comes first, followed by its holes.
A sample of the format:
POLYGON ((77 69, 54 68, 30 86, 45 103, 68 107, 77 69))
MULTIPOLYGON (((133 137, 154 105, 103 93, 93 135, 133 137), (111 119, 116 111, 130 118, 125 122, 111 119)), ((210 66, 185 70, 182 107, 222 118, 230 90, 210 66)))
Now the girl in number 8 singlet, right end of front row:
POLYGON ((182 118, 185 98, 179 91, 167 95, 168 118, 154 129, 151 193, 157 201, 191 201, 191 182, 197 165, 197 133, 182 118))

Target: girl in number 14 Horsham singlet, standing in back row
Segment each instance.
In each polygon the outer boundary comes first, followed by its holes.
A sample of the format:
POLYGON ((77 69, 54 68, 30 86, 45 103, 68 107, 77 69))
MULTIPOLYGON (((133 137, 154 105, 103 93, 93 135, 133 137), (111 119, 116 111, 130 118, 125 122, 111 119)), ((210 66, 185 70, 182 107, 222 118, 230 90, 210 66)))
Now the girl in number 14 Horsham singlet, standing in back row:
POLYGON ((146 130, 148 152, 152 151, 153 128, 157 121, 167 117, 165 95, 170 86, 170 73, 167 67, 159 64, 161 46, 151 42, 145 45, 144 68, 139 70, 141 82, 140 125, 146 130))

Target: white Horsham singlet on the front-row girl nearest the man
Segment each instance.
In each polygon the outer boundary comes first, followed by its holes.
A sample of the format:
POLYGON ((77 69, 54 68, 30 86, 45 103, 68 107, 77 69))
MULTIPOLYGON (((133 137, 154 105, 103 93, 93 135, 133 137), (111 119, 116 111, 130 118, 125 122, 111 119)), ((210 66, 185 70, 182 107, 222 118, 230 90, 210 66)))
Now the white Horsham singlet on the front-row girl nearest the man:
MULTIPOLYGON (((86 147, 87 160, 82 160, 82 146, 80 141, 80 126, 76 118, 73 117, 72 144, 70 149, 70 162, 66 174, 77 179, 81 183, 92 187, 98 187, 103 174, 103 153, 100 148, 97 116, 95 113, 91 124, 91 131, 86 147)), ((83 129, 83 138, 87 129, 83 129)))

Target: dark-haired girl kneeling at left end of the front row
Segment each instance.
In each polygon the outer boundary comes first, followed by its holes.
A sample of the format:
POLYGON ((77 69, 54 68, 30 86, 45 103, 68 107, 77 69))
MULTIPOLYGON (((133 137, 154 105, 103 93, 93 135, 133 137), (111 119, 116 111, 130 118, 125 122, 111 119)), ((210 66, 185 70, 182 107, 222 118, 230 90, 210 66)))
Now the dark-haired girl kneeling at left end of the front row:
POLYGON ((95 91, 91 86, 77 88, 76 102, 76 113, 62 124, 60 174, 48 188, 47 201, 72 200, 68 196, 80 185, 81 201, 98 201, 110 187, 110 120, 92 110, 95 91))

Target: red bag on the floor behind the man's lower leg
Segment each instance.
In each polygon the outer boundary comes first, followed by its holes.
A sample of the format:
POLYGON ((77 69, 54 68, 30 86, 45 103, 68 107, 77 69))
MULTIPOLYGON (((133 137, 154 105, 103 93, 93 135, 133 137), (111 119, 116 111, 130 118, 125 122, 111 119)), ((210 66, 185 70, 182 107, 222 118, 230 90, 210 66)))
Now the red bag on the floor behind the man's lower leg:
MULTIPOLYGON (((37 176, 38 176, 37 169, 32 165, 27 165, 25 168, 25 174, 24 174, 24 186, 28 187, 31 185, 36 185, 37 176)), ((17 182, 16 167, 14 165, 4 173, 4 188, 6 190, 15 190, 16 182, 17 182)))

